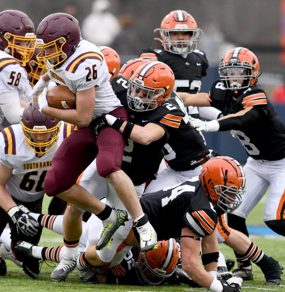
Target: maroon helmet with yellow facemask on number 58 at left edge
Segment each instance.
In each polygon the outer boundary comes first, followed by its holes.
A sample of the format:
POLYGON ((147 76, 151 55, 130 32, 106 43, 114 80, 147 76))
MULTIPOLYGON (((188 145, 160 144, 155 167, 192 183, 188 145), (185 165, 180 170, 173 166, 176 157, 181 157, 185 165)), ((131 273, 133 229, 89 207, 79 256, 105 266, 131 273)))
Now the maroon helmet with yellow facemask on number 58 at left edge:
POLYGON ((34 53, 34 24, 18 10, 0 12, 0 49, 26 65, 34 53), (26 43, 23 46, 24 42, 26 43))

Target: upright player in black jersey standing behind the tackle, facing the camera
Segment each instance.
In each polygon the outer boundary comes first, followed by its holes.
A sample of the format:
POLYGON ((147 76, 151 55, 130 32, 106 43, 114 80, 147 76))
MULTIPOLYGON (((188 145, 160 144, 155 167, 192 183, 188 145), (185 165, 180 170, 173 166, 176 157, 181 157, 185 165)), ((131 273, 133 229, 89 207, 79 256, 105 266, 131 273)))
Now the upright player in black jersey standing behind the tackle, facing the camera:
MULTIPOLYGON (((174 10, 162 20, 159 31, 162 49, 143 49, 140 58, 158 60, 167 64, 175 76, 174 91, 198 93, 201 79, 207 74, 209 66, 206 54, 197 49, 199 34, 195 19, 184 10, 174 10)), ((217 118, 221 114, 215 108, 202 108, 204 118, 217 118)), ((197 107, 187 107, 187 113, 199 118, 197 107)))

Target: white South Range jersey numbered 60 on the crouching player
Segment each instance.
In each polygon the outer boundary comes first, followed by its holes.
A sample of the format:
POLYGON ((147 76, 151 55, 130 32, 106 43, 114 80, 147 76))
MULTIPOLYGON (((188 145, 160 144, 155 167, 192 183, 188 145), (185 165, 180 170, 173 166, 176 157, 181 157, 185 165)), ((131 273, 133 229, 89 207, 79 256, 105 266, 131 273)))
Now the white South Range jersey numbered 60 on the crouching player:
POLYGON ((36 157, 35 152, 26 145, 20 124, 1 131, 0 161, 13 169, 5 186, 12 197, 22 202, 34 202, 44 196, 43 182, 52 165, 53 155, 72 129, 71 124, 61 122, 58 142, 41 157, 36 157))

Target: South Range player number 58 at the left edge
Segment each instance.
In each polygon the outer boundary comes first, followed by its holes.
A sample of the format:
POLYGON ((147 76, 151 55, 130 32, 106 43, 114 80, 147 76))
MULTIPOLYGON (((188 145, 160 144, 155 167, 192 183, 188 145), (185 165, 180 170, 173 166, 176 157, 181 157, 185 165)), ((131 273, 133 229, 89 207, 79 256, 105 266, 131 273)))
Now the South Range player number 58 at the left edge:
MULTIPOLYGON (((21 121, 27 102, 22 100, 28 83, 25 66, 34 53, 34 24, 25 13, 0 13, 0 126, 21 121)), ((3 127, 2 127, 3 129, 3 127)))

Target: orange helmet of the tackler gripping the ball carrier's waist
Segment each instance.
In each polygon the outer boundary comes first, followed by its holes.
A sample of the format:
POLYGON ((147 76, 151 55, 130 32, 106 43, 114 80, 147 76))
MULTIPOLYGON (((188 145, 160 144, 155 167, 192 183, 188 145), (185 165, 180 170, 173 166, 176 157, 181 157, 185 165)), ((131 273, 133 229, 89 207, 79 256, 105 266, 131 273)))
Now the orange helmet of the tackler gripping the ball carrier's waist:
POLYGON ((152 61, 141 65, 129 79, 129 108, 135 111, 154 110, 170 98, 174 82, 174 74, 166 64, 152 61))

